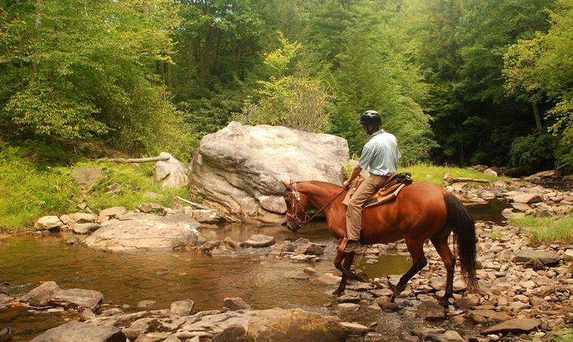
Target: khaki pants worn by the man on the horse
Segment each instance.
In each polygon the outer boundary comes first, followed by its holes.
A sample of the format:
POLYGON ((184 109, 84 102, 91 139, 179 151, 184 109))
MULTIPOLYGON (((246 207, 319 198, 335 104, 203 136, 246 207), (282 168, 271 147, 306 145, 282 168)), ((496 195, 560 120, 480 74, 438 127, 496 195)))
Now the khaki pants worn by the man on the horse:
POLYGON ((346 236, 349 240, 360 239, 362 228, 362 204, 374 195, 388 179, 387 176, 369 175, 358 187, 346 209, 346 236))

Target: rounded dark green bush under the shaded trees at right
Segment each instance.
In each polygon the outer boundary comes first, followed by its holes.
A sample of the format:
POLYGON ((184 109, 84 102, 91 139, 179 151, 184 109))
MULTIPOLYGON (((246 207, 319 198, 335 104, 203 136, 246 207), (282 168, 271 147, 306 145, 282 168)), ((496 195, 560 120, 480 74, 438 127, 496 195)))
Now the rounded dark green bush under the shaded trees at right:
POLYGON ((550 134, 532 133, 513 140, 510 150, 512 166, 531 166, 535 169, 552 167, 557 139, 550 134))

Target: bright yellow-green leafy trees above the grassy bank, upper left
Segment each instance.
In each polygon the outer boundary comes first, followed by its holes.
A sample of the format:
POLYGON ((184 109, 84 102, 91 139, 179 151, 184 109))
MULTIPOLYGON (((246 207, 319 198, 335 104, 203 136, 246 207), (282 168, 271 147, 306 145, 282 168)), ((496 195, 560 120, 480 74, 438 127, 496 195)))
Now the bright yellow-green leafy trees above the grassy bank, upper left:
POLYGON ((175 137, 186 140, 154 76, 157 64, 172 63, 174 2, 84 2, 11 2, 1 12, 0 68, 11 75, 2 80, 4 134, 97 137, 138 153, 172 147, 175 137))

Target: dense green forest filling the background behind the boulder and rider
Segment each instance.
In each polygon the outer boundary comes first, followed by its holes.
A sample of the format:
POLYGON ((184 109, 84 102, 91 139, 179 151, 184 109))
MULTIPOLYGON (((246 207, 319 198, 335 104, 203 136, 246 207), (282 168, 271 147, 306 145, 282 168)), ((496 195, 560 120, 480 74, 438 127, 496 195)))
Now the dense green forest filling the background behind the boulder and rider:
POLYGON ((0 144, 189 159, 378 110, 404 164, 573 165, 572 0, 0 0, 0 144))

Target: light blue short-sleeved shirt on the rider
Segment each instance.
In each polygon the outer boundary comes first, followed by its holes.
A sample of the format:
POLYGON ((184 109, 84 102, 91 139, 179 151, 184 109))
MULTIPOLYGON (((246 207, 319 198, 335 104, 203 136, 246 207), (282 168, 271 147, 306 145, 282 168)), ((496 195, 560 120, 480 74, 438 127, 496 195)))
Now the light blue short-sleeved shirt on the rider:
POLYGON ((368 167, 372 175, 385 176, 398 170, 401 156, 396 137, 384 130, 377 130, 364 145, 358 166, 363 170, 368 167))

